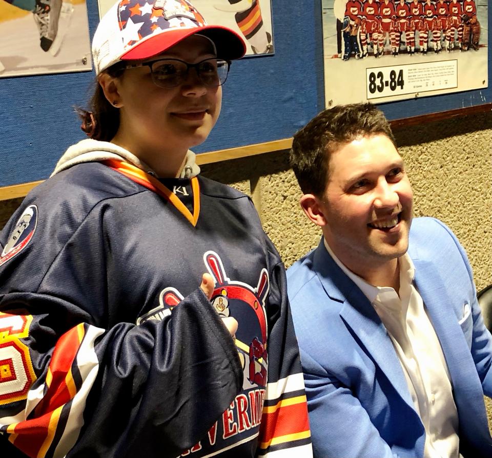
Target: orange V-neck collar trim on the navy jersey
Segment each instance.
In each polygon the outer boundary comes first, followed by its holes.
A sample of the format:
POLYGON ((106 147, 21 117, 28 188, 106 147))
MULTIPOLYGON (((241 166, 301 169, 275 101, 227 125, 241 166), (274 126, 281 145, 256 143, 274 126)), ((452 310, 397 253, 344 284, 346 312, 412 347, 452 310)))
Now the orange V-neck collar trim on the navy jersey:
POLYGON ((193 215, 190 210, 183 204, 179 197, 171 192, 166 186, 164 186, 157 178, 144 172, 143 170, 135 167, 134 165, 128 164, 127 162, 118 161, 116 159, 107 159, 101 161, 108 167, 116 170, 122 175, 127 176, 130 180, 138 183, 139 185, 145 186, 147 189, 154 191, 161 197, 166 198, 171 204, 173 204, 176 209, 193 225, 196 226, 198 221, 198 216, 200 214, 200 185, 198 184, 198 178, 194 176, 191 178, 191 188, 193 190, 193 215))

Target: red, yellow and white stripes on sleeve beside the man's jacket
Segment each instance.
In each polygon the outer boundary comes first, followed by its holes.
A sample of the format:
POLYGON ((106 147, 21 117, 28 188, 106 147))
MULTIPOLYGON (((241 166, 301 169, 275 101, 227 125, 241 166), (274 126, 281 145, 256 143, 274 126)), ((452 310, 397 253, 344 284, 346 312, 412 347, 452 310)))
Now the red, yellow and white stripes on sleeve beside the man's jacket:
POLYGON ((311 431, 302 373, 268 384, 258 448, 260 456, 310 456, 311 431), (299 448, 308 454, 298 454, 299 448))

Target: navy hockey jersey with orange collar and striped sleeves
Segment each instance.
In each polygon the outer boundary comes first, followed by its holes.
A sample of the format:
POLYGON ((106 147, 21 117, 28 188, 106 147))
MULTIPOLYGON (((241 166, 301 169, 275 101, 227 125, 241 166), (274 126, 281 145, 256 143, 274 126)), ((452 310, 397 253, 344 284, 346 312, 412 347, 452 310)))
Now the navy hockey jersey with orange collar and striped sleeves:
POLYGON ((0 245, 9 456, 311 456, 284 268, 247 196, 88 162, 35 188, 0 245))

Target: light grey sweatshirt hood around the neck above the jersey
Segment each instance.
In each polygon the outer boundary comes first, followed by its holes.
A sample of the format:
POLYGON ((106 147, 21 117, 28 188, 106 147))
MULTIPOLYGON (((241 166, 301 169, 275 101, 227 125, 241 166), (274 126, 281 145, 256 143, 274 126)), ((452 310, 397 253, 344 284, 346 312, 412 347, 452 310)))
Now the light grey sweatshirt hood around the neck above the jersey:
MULTIPOLYGON (((186 153, 185 165, 179 172, 180 178, 192 178, 200 173, 200 167, 195 163, 195 153, 188 150, 186 153)), ((56 175, 62 170, 83 164, 85 162, 100 162, 106 159, 116 159, 119 161, 128 162, 147 173, 156 175, 156 173, 143 161, 140 161, 137 156, 132 154, 125 148, 110 142, 100 142, 98 140, 82 140, 75 145, 72 145, 56 164, 55 170, 51 176, 56 175)))

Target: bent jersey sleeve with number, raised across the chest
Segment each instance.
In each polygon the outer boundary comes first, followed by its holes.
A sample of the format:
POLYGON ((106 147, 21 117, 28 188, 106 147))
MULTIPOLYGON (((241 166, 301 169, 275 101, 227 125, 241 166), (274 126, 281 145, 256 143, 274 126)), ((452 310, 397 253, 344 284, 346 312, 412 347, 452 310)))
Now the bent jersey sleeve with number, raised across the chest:
POLYGON ((0 266, 2 443, 32 457, 175 458, 240 391, 237 351, 199 288, 161 320, 110 319, 102 227, 89 215, 51 260, 47 225, 0 266))

